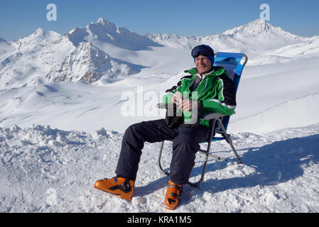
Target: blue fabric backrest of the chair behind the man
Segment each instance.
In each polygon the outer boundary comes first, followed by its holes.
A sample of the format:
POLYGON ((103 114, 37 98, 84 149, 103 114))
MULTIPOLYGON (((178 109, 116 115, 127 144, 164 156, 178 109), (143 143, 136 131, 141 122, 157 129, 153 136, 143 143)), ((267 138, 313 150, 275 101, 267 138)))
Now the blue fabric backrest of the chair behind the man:
MULTIPOLYGON (((247 60, 248 57, 244 53, 217 52, 215 55, 214 66, 223 67, 224 70, 227 71, 228 77, 234 82, 236 92, 240 77, 242 76, 242 70, 247 63, 247 60)), ((222 118, 222 125, 224 126, 225 130, 227 130, 229 118, 230 116, 225 116, 222 118)), ((215 132, 222 133, 220 126, 215 129, 215 132)))

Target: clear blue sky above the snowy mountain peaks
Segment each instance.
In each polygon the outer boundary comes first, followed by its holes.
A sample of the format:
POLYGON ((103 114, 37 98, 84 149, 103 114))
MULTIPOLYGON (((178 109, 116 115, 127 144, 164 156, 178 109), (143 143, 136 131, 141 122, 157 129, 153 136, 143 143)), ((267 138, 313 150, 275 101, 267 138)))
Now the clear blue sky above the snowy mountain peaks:
POLYGON ((37 28, 63 34, 100 17, 140 35, 215 35, 259 18, 261 4, 269 4, 273 26, 319 35, 318 0, 1 0, 0 37, 16 40, 37 28), (46 18, 51 3, 57 6, 57 21, 46 18))

